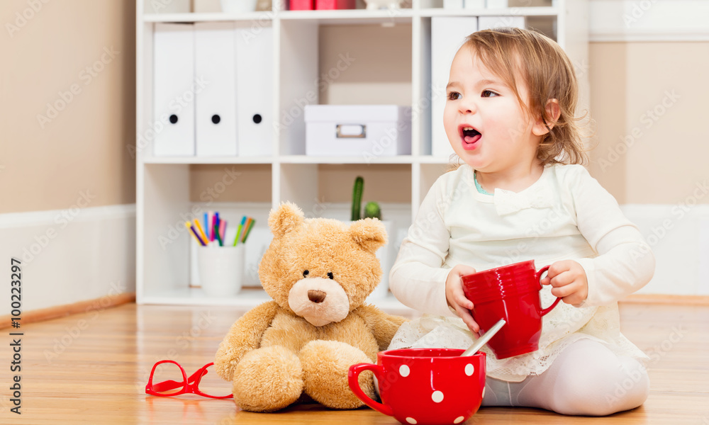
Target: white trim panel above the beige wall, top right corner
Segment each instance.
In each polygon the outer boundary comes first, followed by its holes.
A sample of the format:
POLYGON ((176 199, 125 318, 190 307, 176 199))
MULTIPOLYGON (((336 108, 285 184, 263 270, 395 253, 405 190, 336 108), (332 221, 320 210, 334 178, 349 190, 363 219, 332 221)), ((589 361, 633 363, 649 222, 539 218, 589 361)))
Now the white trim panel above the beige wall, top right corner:
POLYGON ((709 1, 591 0, 588 7, 591 42, 709 41, 709 1))

